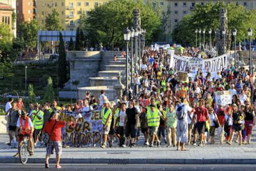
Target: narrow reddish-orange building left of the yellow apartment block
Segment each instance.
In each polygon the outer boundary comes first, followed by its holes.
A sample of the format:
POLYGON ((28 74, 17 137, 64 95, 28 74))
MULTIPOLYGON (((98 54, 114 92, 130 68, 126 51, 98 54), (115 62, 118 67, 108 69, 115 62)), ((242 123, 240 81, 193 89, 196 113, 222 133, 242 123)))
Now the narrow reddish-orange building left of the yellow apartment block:
POLYGON ((35 19, 36 9, 34 0, 17 0, 16 6, 17 27, 22 22, 30 22, 35 19))

